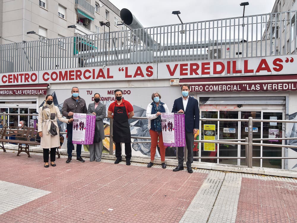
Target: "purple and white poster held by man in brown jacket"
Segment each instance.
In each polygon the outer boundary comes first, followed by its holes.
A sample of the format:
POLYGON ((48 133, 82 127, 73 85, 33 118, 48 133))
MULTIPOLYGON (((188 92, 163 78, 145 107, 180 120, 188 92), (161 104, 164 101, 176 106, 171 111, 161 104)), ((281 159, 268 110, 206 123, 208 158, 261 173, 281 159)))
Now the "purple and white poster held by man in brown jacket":
POLYGON ((93 114, 73 114, 73 134, 72 143, 90 145, 94 141, 96 115, 93 114))

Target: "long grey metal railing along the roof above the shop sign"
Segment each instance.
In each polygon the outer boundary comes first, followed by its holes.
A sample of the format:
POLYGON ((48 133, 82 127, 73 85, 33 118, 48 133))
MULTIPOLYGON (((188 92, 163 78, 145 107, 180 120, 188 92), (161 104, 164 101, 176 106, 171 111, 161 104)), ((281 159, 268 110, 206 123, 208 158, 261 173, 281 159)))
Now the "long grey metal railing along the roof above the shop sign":
POLYGON ((278 12, 10 43, 0 45, 0 73, 296 54, 296 18, 278 12))

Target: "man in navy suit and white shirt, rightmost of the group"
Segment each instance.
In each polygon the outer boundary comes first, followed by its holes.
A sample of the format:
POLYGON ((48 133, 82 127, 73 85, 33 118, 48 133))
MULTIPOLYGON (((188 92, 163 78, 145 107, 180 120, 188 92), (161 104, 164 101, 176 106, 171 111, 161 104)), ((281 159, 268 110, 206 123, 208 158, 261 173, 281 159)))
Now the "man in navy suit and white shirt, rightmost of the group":
MULTIPOLYGON (((187 144, 187 171, 192 173, 191 164, 193 163, 193 145, 194 135, 199 129, 199 106, 198 100, 189 96, 190 85, 181 86, 182 97, 174 101, 172 112, 185 114, 185 136, 187 144)), ((184 147, 178 147, 178 167, 173 169, 174 172, 184 170, 184 147)))

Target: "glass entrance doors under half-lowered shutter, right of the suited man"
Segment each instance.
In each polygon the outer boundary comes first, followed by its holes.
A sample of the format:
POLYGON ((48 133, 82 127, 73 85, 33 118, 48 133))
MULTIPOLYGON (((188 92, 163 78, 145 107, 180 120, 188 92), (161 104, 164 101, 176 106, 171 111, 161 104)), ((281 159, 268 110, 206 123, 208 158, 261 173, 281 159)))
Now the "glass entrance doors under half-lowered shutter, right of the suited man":
MULTIPOLYGON (((256 107, 256 106, 255 106, 256 107)), ((260 107, 260 106, 259 106, 260 107)), ((284 137, 284 125, 282 123, 276 123, 274 120, 283 120, 284 112, 282 110, 272 109, 257 109, 250 111, 241 110, 214 110, 211 111, 205 109, 201 110, 201 117, 220 119, 267 119, 271 122, 261 123, 253 122, 253 139, 269 138, 271 140, 253 140, 255 143, 266 144, 282 144, 282 140, 275 140, 274 138, 284 137)), ((248 136, 248 122, 239 121, 202 121, 200 127, 201 139, 206 139, 206 134, 211 131, 206 131, 205 127, 212 128, 215 131, 215 139, 245 139, 248 136), (207 124, 207 125, 206 125, 207 124)), ((244 141, 241 141, 244 142, 244 141)), ((236 144, 214 144, 209 145, 206 143, 200 143, 198 146, 201 148, 199 151, 200 156, 219 156, 219 157, 246 157, 246 147, 236 144), (212 149, 212 150, 211 150, 212 149), (211 152, 212 151, 212 152, 211 152)), ((283 147, 271 147, 271 146, 253 146, 253 157, 282 157, 284 155, 283 147)), ((202 162, 216 162, 222 164, 235 164, 235 165, 247 165, 246 159, 201 159, 202 162)), ((270 168, 282 168, 282 159, 253 159, 253 166, 255 167, 270 167, 270 168)))

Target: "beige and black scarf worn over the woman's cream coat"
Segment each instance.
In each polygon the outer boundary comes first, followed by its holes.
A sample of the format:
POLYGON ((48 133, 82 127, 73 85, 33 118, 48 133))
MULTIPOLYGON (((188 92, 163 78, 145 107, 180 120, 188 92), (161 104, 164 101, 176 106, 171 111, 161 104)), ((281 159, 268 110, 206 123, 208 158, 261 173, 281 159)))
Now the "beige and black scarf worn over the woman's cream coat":
POLYGON ((48 125, 48 133, 52 136, 58 135, 57 128, 57 117, 56 117, 56 107, 54 104, 48 105, 47 103, 44 103, 42 107, 42 115, 43 115, 43 121, 47 122, 48 125))

